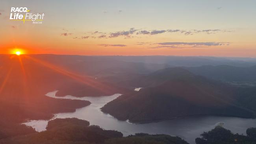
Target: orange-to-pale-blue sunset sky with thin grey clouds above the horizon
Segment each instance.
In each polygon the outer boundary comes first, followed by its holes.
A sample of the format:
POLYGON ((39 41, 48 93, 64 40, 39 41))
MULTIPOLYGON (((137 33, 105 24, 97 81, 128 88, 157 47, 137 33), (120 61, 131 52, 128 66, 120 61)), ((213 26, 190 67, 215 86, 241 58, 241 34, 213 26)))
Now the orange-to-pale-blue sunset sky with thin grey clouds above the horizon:
POLYGON ((0 54, 256 57, 255 0, 1 0, 0 54), (10 20, 11 7, 44 13, 10 20))

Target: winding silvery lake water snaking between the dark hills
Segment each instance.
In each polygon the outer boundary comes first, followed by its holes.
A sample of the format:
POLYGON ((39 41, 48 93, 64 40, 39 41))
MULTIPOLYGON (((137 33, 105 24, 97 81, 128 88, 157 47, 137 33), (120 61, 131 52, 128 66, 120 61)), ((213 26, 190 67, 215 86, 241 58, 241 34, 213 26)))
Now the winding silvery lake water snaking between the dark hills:
MULTIPOLYGON (((102 113, 100 108, 106 103, 114 100, 121 94, 100 97, 82 97, 74 96, 56 97, 57 91, 49 92, 46 96, 52 98, 68 98, 76 100, 89 100, 91 105, 76 109, 74 113, 57 113, 54 118, 79 118, 87 120, 92 125, 98 125, 103 129, 117 130, 128 136, 135 133, 149 134, 167 134, 179 136, 191 144, 195 144, 195 138, 200 137, 204 131, 210 131, 217 125, 223 125, 233 133, 246 134, 246 129, 256 127, 256 119, 223 117, 223 116, 189 116, 175 118, 161 122, 152 122, 146 124, 132 124, 128 121, 120 121, 109 114, 102 113)), ((53 119, 54 119, 53 118, 53 119)), ((47 120, 31 120, 24 124, 32 126, 36 131, 44 131, 47 126, 47 120)))

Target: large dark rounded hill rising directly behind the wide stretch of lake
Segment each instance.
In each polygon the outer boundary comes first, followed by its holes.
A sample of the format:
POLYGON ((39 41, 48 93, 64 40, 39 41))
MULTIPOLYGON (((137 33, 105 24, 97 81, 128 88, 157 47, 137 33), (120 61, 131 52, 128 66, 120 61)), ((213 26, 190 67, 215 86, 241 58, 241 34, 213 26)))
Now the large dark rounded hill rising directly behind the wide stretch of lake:
POLYGON ((196 76, 182 68, 166 68, 135 80, 147 86, 107 103, 102 111, 120 120, 150 122, 195 114, 254 117, 236 100, 236 88, 196 76))

